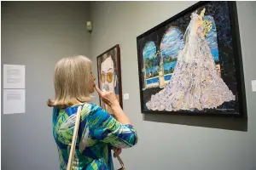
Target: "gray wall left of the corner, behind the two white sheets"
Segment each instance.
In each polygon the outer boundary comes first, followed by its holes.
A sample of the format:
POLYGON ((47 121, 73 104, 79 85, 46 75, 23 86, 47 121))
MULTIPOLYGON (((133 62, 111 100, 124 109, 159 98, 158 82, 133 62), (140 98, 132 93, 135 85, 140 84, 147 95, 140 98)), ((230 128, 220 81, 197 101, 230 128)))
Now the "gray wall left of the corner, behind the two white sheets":
POLYGON ((26 113, 2 110, 3 170, 59 169, 46 100, 54 97, 55 62, 89 55, 88 18, 85 2, 2 2, 2 63, 26 65, 26 113))

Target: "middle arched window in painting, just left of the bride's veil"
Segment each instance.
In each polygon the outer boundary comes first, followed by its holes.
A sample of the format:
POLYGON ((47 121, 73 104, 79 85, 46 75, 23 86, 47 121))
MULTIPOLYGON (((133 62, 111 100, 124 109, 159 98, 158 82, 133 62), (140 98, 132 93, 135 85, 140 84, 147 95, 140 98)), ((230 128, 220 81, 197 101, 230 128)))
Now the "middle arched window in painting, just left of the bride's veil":
POLYGON ((160 55, 163 59, 165 82, 167 83, 175 69, 177 54, 183 49, 183 32, 177 26, 170 26, 160 43, 160 55))

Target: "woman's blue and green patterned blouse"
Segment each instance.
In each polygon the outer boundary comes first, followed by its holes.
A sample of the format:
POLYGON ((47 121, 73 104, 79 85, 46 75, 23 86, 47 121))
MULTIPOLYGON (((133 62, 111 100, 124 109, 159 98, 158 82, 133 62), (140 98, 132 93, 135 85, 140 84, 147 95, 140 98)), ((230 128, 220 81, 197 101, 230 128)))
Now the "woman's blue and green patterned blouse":
MULTIPOLYGON (((67 169, 73 127, 79 105, 53 110, 53 135, 59 152, 60 169, 67 169)), ((113 170, 113 147, 129 148, 137 144, 137 132, 122 125, 100 106, 82 105, 73 169, 113 170)))

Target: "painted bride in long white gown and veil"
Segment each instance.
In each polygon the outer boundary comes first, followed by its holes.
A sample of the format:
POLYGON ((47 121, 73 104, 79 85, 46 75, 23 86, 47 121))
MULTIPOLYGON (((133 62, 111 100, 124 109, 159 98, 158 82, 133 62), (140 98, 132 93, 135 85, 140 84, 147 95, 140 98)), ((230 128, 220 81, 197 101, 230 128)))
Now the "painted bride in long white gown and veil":
POLYGON ((151 96, 146 103, 153 111, 178 111, 216 108, 236 97, 218 76, 201 14, 191 14, 184 35, 184 48, 177 55, 177 64, 166 88, 151 96))

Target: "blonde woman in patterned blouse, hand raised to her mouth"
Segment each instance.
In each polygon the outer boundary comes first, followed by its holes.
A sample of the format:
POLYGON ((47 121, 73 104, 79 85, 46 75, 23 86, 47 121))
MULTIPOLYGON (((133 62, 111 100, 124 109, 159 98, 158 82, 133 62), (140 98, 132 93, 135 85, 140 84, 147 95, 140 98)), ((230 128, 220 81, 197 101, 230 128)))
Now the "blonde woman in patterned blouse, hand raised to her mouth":
POLYGON ((102 92, 95 86, 91 74, 92 63, 84 56, 64 58, 55 65, 55 99, 53 107, 53 135, 59 152, 60 169, 67 169, 76 112, 82 105, 78 140, 73 169, 113 170, 111 150, 129 148, 137 144, 137 132, 113 92, 102 92), (113 110, 113 116, 100 106, 90 103, 96 89, 102 100, 113 110))

